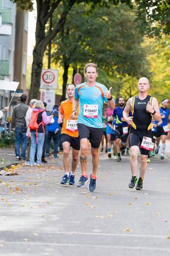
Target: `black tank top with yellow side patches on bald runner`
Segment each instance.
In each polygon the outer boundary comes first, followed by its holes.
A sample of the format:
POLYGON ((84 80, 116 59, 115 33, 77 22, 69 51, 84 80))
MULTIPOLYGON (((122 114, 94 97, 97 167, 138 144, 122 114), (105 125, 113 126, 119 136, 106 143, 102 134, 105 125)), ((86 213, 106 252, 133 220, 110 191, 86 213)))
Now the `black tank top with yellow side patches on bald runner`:
POLYGON ((151 119, 152 115, 146 112, 146 105, 147 102, 152 104, 152 97, 148 95, 145 100, 140 100, 138 96, 133 97, 133 104, 132 104, 132 116, 133 122, 131 126, 135 130, 141 131, 149 131, 151 130, 151 119))

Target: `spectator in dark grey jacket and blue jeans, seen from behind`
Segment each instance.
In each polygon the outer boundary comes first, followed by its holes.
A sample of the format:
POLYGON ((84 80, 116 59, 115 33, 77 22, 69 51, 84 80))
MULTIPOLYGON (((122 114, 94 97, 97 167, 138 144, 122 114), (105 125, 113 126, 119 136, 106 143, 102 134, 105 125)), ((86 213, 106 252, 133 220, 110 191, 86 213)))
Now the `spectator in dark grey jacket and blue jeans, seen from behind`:
POLYGON ((28 137, 26 136, 27 125, 25 115, 28 110, 26 104, 27 95, 20 96, 21 103, 16 105, 12 113, 12 126, 15 127, 15 155, 16 159, 25 160, 25 151, 27 148, 28 137), (20 154, 20 143, 22 142, 22 151, 20 154))

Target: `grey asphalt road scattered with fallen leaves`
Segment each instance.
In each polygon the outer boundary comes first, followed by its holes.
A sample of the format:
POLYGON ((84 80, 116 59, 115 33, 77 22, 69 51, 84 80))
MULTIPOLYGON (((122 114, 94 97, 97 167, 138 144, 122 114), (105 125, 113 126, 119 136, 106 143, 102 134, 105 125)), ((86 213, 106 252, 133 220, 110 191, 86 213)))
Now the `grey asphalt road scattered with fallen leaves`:
MULTIPOLYGON (((1 150, 2 158, 12 161, 12 151, 1 150)), ((128 156, 117 163, 100 155, 93 193, 59 184, 62 155, 49 162, 0 177, 1 256, 170 255, 169 142, 166 158, 148 164, 143 191, 128 188, 128 156)))

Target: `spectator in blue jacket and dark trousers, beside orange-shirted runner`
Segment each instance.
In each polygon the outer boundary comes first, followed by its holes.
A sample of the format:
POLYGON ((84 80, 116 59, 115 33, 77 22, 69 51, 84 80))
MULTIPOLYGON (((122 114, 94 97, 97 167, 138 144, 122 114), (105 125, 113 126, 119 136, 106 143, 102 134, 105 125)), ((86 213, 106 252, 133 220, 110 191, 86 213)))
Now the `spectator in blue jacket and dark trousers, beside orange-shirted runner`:
POLYGON ((58 158, 58 146, 59 146, 59 123, 58 123, 58 105, 53 106, 53 118, 54 123, 48 125, 48 140, 46 143, 46 156, 50 156, 50 142, 53 139, 54 142, 54 158, 58 158))

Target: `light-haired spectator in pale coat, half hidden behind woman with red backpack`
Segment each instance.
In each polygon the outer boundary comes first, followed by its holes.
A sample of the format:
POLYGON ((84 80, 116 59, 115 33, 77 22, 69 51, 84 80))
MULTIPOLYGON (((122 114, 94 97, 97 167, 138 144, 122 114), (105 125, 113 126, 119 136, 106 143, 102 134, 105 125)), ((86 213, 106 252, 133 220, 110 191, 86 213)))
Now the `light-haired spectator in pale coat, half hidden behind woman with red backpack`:
POLYGON ((33 105, 35 104, 37 100, 35 98, 33 98, 30 102, 29 102, 29 108, 27 110, 26 116, 25 116, 25 121, 27 124, 27 137, 28 137, 28 151, 27 151, 27 158, 25 161, 25 166, 29 166, 29 154, 30 154, 30 148, 31 148, 31 133, 30 133, 30 129, 29 129, 29 122, 31 120, 31 114, 32 114, 32 110, 33 110, 33 105))

